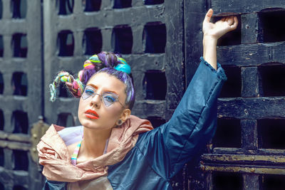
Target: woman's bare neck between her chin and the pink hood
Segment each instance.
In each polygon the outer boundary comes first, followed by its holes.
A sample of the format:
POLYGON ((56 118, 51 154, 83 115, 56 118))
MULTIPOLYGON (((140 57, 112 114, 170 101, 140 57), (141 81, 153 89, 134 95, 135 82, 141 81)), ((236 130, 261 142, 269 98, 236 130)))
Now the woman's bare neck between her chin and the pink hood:
POLYGON ((111 131, 111 129, 98 131, 84 127, 83 140, 80 149, 81 157, 93 159, 103 155, 105 144, 107 139, 110 137, 111 131))

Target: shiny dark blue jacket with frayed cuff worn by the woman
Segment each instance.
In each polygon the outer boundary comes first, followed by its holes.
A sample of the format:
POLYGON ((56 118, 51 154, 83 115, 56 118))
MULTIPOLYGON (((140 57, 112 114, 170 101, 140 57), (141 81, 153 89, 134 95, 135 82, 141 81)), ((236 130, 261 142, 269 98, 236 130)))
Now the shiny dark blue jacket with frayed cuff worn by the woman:
MULTIPOLYGON (((140 134, 123 161, 109 166, 113 189, 172 189, 170 179, 214 135, 217 97, 224 70, 201 63, 170 121, 140 134)), ((63 182, 46 181, 44 189, 66 189, 63 182)))

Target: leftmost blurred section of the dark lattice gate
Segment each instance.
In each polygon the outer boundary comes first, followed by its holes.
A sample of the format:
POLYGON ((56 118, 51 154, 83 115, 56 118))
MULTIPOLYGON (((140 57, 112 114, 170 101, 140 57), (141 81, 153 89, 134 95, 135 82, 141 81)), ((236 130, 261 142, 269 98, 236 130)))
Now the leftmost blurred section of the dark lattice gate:
POLYGON ((0 189, 33 189, 30 125, 42 113, 41 2, 0 1, 0 189))

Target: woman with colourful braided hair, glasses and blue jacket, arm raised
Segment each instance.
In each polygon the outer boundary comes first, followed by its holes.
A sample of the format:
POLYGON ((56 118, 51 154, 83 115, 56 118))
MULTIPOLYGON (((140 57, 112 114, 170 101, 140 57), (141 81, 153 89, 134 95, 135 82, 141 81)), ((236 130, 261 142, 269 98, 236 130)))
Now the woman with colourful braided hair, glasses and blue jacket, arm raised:
POLYGON ((129 66, 113 53, 86 60, 73 79, 59 73, 51 85, 66 82, 81 97, 82 127, 52 125, 38 144, 44 189, 172 189, 170 179, 212 137, 217 97, 226 80, 217 64, 217 39, 237 28, 237 18, 203 22, 203 58, 170 121, 152 129, 130 115, 135 100, 129 66))

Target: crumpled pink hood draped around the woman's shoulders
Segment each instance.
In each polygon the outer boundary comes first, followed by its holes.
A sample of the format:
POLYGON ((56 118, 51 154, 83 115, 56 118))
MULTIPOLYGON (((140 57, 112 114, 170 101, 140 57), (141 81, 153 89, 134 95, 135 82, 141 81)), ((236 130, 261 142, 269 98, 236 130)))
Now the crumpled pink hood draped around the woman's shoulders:
POLYGON ((74 182, 97 179, 108 174, 109 165, 122 161, 135 146, 138 134, 153 129, 148 120, 130 115, 121 127, 113 128, 107 147, 107 153, 73 166, 66 144, 58 134, 64 127, 51 125, 38 143, 39 163, 43 165, 43 175, 52 181, 74 182))

